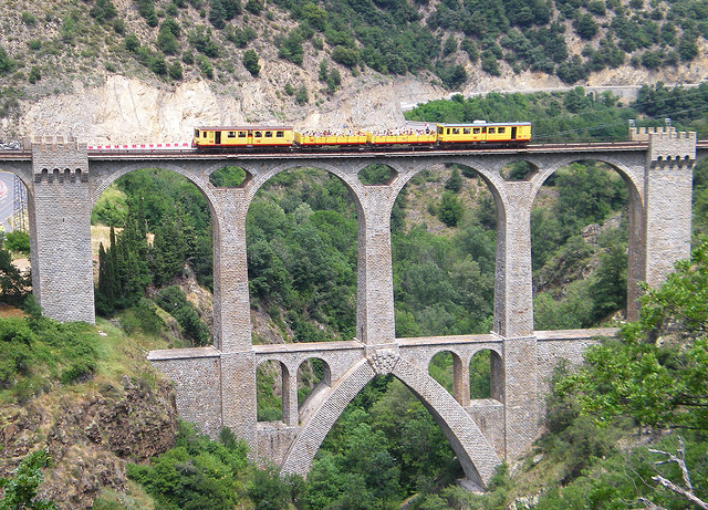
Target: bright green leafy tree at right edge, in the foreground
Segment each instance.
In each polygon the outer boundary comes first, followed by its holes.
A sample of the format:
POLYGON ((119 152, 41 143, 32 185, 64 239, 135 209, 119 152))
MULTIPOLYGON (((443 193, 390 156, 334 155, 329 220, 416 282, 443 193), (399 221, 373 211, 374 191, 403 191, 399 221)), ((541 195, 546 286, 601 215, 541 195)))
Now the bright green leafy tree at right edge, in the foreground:
POLYGON ((666 283, 642 298, 639 321, 618 342, 586 354, 587 364, 559 385, 603 420, 708 429, 708 242, 676 264, 666 283))

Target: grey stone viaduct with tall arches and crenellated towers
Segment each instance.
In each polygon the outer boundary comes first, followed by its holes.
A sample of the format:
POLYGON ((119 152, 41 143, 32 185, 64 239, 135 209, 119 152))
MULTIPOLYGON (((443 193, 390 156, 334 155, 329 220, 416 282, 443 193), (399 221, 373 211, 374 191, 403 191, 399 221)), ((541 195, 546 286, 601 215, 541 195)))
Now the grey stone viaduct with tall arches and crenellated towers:
MULTIPOLYGON (((635 143, 612 146, 529 146, 475 152, 309 155, 200 155, 196 153, 88 152, 75 140, 35 142, 0 154, 0 169, 28 188, 33 291, 44 312, 60 321, 93 323, 91 211, 116 178, 139 168, 165 168, 192 181, 206 197, 214 223, 214 346, 149 353, 176 384, 181 416, 216 434, 222 426, 246 438, 254 458, 285 472, 305 473, 348 402, 381 374, 393 374, 421 400, 441 427, 466 477, 485 487, 503 458, 523 454, 539 431, 548 377, 561 358, 579 362, 597 334, 612 330, 540 332, 533 327, 530 215, 539 188, 572 162, 605 162, 629 191, 628 314, 636 316, 637 282, 658 284, 690 248, 694 133, 673 128, 632 132, 635 143), (525 180, 500 170, 524 160, 525 180), (364 185, 371 164, 392 169, 383 185, 364 185), (391 212, 408 180, 423 169, 458 164, 475 169, 492 192, 498 214, 493 331, 486 335, 397 339, 391 251, 391 212), (210 184, 227 165, 247 171, 237 188, 210 184), (253 345, 248 292, 246 215, 270 177, 294 167, 317 167, 343 180, 358 219, 356 337, 346 342, 253 345), (491 398, 470 400, 469 366, 490 351, 491 398), (454 360, 454 392, 428 375, 439 352, 454 360), (299 407, 296 373, 319 358, 322 382, 299 407), (258 423, 256 371, 281 364, 283 419, 258 423)), ((698 144, 698 152, 702 145, 698 144)))

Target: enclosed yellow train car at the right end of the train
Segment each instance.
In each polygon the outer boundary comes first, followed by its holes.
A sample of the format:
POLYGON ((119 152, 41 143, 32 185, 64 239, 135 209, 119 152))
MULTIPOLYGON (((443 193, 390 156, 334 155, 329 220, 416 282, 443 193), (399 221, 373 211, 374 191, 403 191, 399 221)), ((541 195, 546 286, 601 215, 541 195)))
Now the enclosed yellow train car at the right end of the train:
POLYGON ((444 146, 469 144, 524 144, 531 139, 531 123, 438 124, 438 143, 444 146))

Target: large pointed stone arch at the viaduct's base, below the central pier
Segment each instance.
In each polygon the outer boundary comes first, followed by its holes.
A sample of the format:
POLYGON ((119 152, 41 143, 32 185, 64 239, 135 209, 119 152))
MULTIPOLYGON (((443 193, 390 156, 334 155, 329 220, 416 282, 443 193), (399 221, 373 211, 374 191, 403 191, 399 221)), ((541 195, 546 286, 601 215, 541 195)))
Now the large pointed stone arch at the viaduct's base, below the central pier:
MULTIPOLYGON (((500 459, 491 443, 482 435, 469 414, 455 398, 419 366, 397 358, 391 371, 431 414, 457 455, 465 475, 472 482, 486 487, 500 459)), ((347 404, 376 375, 367 360, 354 365, 323 399, 322 405, 303 423, 285 456, 283 472, 305 475, 320 445, 347 404)))

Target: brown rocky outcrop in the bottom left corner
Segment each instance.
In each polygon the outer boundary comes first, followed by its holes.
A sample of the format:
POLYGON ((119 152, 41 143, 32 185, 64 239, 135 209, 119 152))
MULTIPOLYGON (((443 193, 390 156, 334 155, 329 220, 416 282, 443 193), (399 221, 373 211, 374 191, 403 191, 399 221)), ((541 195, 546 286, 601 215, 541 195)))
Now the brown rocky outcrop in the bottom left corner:
POLYGON ((98 491, 125 489, 125 462, 146 460, 169 449, 177 410, 169 384, 123 377, 123 387, 104 384, 81 397, 43 398, 0 416, 0 476, 11 475, 30 451, 45 448, 52 466, 40 497, 61 509, 87 509, 98 491))

